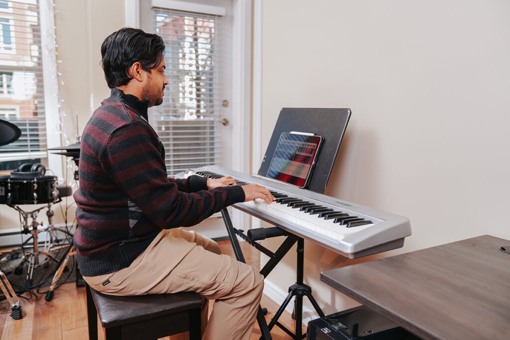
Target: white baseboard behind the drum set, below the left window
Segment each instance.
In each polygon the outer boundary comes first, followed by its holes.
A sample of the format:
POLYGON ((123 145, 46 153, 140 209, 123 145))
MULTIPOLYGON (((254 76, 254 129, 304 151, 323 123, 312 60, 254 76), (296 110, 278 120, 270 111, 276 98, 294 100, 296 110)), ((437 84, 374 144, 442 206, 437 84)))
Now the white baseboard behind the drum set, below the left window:
MULTIPOLYGON (((59 223, 53 225, 54 229, 54 239, 58 240, 66 240, 66 234, 64 232, 65 224, 59 223)), ((74 232, 74 226, 72 224, 67 224, 67 229, 72 233, 74 232)), ((40 232, 37 234, 37 243, 44 243, 46 240, 49 240, 49 230, 47 225, 38 226, 37 230, 40 232)), ((9 229, 0 229, 0 248, 9 248, 21 246, 21 244, 27 241, 32 235, 25 234, 21 232, 21 227, 19 228, 9 228, 9 229)), ((69 237, 69 236, 68 236, 69 237)), ((27 242, 27 245, 33 245, 33 240, 27 242)))

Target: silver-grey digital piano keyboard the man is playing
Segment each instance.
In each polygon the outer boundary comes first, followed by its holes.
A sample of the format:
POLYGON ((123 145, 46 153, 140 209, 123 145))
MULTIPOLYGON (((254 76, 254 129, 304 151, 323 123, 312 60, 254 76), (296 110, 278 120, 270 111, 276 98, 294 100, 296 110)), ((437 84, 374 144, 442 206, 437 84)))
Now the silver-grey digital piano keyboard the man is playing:
POLYGON ((411 225, 405 217, 266 177, 217 166, 198 168, 195 174, 211 178, 232 176, 238 185, 256 183, 268 188, 276 198, 273 203, 257 199, 233 206, 345 257, 357 258, 400 248, 404 238, 411 235, 411 225))

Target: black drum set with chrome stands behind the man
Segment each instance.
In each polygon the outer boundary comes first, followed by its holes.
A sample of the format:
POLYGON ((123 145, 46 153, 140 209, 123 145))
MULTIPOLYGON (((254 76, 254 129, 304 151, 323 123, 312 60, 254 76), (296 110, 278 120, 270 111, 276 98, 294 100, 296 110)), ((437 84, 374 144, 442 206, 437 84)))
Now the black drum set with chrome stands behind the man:
MULTIPOLYGON (((16 141, 21 135, 17 126, 12 123, 0 119, 0 146, 6 145, 16 141)), ((75 153, 75 150, 73 151, 75 153)), ((73 154, 74 154, 73 153, 73 154)), ((65 154, 65 153, 63 153, 65 154)), ((79 149, 78 149, 79 157, 79 149)), ((60 278, 60 274, 67 264, 69 251, 72 247, 70 242, 67 256, 62 258, 61 261, 57 260, 55 256, 50 253, 50 248, 54 244, 53 234, 57 228, 53 225, 54 212, 52 205, 62 201, 61 197, 70 195, 71 190, 68 187, 58 188, 57 177, 46 175, 46 168, 40 163, 26 163, 19 166, 16 170, 12 171, 10 175, 0 176, 0 204, 8 205, 19 213, 21 223, 21 233, 30 234, 30 237, 22 241, 20 249, 24 252, 24 257, 19 266, 14 271, 15 274, 22 272, 22 267, 27 264, 27 280, 25 281, 25 289, 33 289, 33 274, 34 269, 39 266, 47 268, 49 263, 54 261, 59 264, 59 268, 55 273, 52 285, 50 287, 50 295, 53 297, 53 289, 55 289, 56 281, 60 278), (60 193, 59 189, 65 192, 60 193), (27 205, 35 205, 33 210, 24 210, 27 205), (40 206, 42 204, 42 206, 40 206), (39 213, 46 209, 46 217, 48 225, 45 228, 42 222, 37 221, 39 213), (44 241, 43 249, 39 247, 38 235, 40 232, 48 232, 49 240, 46 238, 44 241), (29 244, 30 243, 30 244, 29 244), (25 248, 30 248, 27 252, 25 248), (63 263, 65 262, 65 263, 63 263)), ((71 237, 72 235, 66 230, 71 237)), ((13 319, 21 319, 23 317, 19 300, 12 289, 11 284, 7 280, 5 274, 0 270, 0 289, 6 296, 7 300, 12 306, 11 317, 13 319)), ((49 300, 51 299, 49 298, 49 300)), ((46 298, 47 301, 48 298, 46 298)))

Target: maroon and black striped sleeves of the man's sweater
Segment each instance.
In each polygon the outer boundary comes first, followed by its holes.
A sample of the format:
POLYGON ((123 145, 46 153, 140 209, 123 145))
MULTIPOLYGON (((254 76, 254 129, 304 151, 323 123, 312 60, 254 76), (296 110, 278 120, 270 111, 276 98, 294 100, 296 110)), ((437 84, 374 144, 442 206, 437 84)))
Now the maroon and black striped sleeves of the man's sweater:
POLYGON ((132 122, 110 136, 100 158, 110 179, 159 227, 191 226, 244 201, 244 191, 238 186, 203 190, 207 189, 206 178, 170 180, 159 148, 148 125, 132 122))

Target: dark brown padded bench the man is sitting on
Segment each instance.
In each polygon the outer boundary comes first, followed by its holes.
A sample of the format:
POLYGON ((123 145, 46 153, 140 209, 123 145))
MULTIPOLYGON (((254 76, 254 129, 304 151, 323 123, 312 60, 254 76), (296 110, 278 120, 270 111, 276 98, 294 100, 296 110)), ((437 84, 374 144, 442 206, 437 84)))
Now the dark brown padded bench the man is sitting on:
POLYGON ((86 285, 89 339, 97 340, 97 314, 106 340, 156 339, 189 331, 201 339, 203 300, 193 292, 141 296, 98 293, 86 285))

